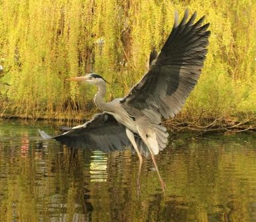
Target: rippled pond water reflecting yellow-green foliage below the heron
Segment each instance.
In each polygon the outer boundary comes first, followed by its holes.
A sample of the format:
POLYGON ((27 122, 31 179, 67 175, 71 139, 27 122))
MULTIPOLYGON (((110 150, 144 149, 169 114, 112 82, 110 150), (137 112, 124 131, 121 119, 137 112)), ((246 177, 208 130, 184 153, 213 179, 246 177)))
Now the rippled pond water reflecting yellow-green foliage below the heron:
POLYGON ((175 135, 140 190, 130 150, 71 149, 36 122, 0 120, 0 221, 256 221, 256 135, 175 135))

